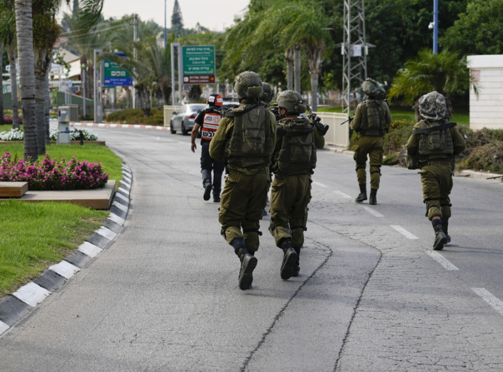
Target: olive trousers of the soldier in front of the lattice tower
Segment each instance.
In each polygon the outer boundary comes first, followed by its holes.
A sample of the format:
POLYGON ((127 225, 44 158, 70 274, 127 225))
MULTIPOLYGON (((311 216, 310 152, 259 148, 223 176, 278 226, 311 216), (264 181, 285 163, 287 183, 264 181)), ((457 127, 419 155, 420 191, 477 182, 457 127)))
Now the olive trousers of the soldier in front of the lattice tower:
POLYGON ((370 187, 379 189, 379 181, 381 180, 381 165, 383 158, 383 137, 359 136, 355 148, 353 158, 356 162, 356 176, 358 184, 367 184, 367 174, 365 171, 367 163, 367 155, 369 156, 370 165, 370 187))

